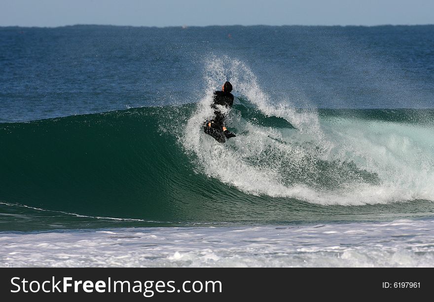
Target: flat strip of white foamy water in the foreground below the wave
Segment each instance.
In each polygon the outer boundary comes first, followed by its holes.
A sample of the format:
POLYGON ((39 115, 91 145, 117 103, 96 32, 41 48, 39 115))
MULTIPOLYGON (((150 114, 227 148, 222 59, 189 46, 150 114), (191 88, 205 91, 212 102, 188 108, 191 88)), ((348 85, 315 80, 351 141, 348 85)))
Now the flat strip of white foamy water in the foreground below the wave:
POLYGON ((432 220, 1 233, 1 267, 434 267, 432 220))

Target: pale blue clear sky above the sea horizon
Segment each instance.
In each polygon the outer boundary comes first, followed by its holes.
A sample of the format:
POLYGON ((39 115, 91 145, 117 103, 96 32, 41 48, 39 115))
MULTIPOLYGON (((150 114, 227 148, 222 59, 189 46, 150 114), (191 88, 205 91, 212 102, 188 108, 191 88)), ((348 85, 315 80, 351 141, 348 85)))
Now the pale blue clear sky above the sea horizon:
POLYGON ((434 24, 434 0, 0 0, 0 26, 434 24))

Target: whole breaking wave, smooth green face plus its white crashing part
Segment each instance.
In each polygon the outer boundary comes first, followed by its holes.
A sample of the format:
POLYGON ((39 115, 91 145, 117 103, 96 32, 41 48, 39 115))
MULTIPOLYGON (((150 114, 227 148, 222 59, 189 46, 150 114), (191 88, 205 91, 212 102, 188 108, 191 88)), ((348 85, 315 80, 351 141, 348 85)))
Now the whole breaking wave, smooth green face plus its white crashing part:
POLYGON ((433 111, 320 110, 318 135, 241 101, 228 115, 237 137, 224 145, 191 124, 198 112, 187 104, 0 124, 0 228, 33 216, 42 217, 35 228, 92 223, 67 213, 102 225, 96 217, 139 219, 124 221, 133 226, 432 214, 433 111))

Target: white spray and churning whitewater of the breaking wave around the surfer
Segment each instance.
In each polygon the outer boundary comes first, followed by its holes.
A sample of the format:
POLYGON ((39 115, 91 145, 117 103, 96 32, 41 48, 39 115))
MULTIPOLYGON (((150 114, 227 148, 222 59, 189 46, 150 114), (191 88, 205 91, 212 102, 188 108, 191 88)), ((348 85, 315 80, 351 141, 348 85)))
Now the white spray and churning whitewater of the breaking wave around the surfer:
POLYGON ((206 66, 208 88, 182 138, 185 150, 197 158, 196 172, 248 194, 324 205, 434 201, 432 128, 357 119, 321 120, 312 108, 295 110, 290 97, 271 101, 253 72, 239 60, 211 57, 206 66), (231 81, 235 95, 246 97, 267 116, 286 119, 296 129, 263 127, 232 110, 227 125, 237 128, 237 137, 224 145, 216 143, 203 133, 202 125, 213 115, 213 91, 225 80, 231 81), (325 174, 318 166, 320 161, 335 168, 325 174), (354 171, 342 168, 348 164, 355 165, 354 171), (366 181, 357 173, 375 181, 366 181), (321 182, 327 179, 337 183, 327 187, 321 182))

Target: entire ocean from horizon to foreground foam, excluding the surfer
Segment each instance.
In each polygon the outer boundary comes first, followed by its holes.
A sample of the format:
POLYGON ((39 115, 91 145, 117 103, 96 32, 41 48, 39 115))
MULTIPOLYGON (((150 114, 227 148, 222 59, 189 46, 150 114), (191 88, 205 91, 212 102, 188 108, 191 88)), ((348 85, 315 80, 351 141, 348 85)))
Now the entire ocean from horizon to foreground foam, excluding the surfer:
POLYGON ((430 25, 0 28, 0 266, 434 267, 433 50, 430 25))

